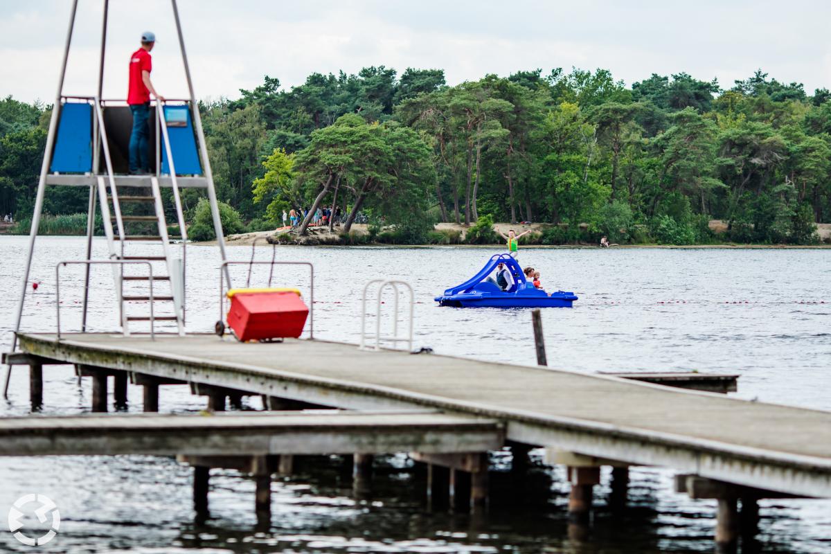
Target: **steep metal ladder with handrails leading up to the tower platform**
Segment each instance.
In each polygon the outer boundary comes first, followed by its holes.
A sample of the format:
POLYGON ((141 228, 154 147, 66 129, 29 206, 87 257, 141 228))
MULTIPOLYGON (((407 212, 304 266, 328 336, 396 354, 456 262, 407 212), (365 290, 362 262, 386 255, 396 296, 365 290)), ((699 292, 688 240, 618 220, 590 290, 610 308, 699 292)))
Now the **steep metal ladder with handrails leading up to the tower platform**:
POLYGON ((167 229, 165 207, 161 196, 158 175, 150 176, 150 187, 146 186, 146 179, 135 179, 135 183, 124 185, 130 189, 139 189, 140 194, 119 194, 119 186, 116 185, 116 179, 112 169, 110 145, 107 140, 104 115, 101 108, 101 100, 99 98, 96 98, 94 109, 99 129, 101 130, 100 139, 106 163, 106 177, 104 175, 98 176, 97 190, 98 201, 101 205, 101 218, 104 222, 104 233, 106 235, 107 248, 109 249, 110 258, 115 260, 164 262, 164 266, 167 271, 167 275, 155 274, 155 272, 153 272, 152 276, 146 273, 125 274, 125 269, 127 269, 128 266, 125 266, 124 264, 113 266, 113 277, 116 284, 116 292, 118 294, 122 331, 125 335, 130 335, 131 322, 135 323, 139 321, 147 321, 150 324, 150 331, 155 331, 153 326, 155 326, 156 321, 175 321, 176 330, 178 334, 182 336, 184 335, 185 322, 184 277, 187 229, 184 223, 184 212, 182 210, 181 197, 179 195, 179 185, 176 179, 173 152, 170 148, 170 137, 167 133, 167 127, 165 124, 165 104, 164 102, 159 101, 156 105, 157 130, 160 130, 162 137, 164 138, 165 154, 167 154, 168 167, 170 169, 176 218, 179 223, 182 240, 181 257, 175 257, 171 252, 170 236, 167 229), (108 184, 109 187, 107 186, 108 184), (149 191, 147 189, 149 189, 149 191), (147 194, 148 192, 150 193, 149 195, 147 194), (152 213, 125 215, 122 213, 121 203, 130 203, 131 205, 138 206, 144 204, 145 207, 150 208, 145 211, 150 211, 152 213), (147 224, 153 225, 154 223, 157 234, 149 234, 146 228, 141 228, 135 232, 132 232, 127 228, 128 224, 142 224, 146 226, 147 224), (116 227, 115 232, 113 230, 113 225, 116 227), (161 251, 150 255, 128 252, 128 250, 130 250, 128 247, 135 243, 155 243, 161 247, 161 251), (149 292, 146 292, 144 289, 136 290, 135 286, 140 286, 140 283, 147 283, 150 279, 153 279, 154 282, 167 282, 170 287, 169 293, 154 294, 151 300, 149 292), (126 286, 128 287, 127 292, 125 292, 125 283, 127 283, 126 286), (153 309, 149 312, 140 314, 128 313, 128 306, 135 306, 135 304, 143 302, 153 302, 153 309))

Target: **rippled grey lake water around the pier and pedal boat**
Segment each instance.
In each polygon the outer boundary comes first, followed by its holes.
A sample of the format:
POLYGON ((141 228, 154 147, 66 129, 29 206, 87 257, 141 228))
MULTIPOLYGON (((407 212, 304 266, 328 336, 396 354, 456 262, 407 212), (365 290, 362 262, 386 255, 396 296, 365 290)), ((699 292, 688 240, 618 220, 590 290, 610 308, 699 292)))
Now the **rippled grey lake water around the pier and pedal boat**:
MULTIPOLYGON (((26 238, 0 238, 0 338, 11 346, 26 238)), ((24 330, 55 329, 55 265, 84 257, 82 238, 41 238, 24 330)), ((150 252, 151 247, 144 247, 150 252)), ((106 243, 95 252, 105 257, 106 243)), ((140 250, 135 252, 141 252, 140 250)), ((247 260, 251 248, 231 247, 247 260)), ((358 341, 361 289, 371 278, 400 278, 416 292, 416 347, 483 360, 533 364, 529 311, 454 309, 433 297, 464 281, 494 251, 481 248, 281 247, 283 261, 315 267, 315 331, 322 338, 358 341)), ((271 259, 272 249, 257 249, 271 259)), ((523 266, 542 272, 548 290, 580 297, 573 309, 543 311, 548 363, 584 372, 699 370, 740 373, 740 398, 831 410, 831 252, 761 249, 523 248, 523 266)), ((188 249, 189 329, 210 331, 218 318, 219 252, 188 249)), ((115 329, 112 278, 93 274, 91 326, 115 329)), ((243 284, 244 269, 234 269, 243 284)), ((307 284, 305 270, 282 267, 280 286, 307 284)), ((263 268, 253 284, 263 284, 263 268)), ((77 330, 81 270, 61 278, 61 325, 77 330)), ((30 289, 31 292, 31 289, 30 289)), ((385 305, 385 307, 387 307, 385 305)), ((391 371, 396 370, 390 368, 391 371)), ((44 370, 46 414, 87 411, 91 384, 80 387, 69 366, 44 370)), ((162 390, 160 411, 204 408, 184 387, 162 390)), ((140 411, 130 387, 130 411, 140 411)), ((248 403, 258 408, 257 399, 248 403)), ((15 370, 0 415, 29 412, 27 370, 15 370)), ((717 424, 717 422, 714 422, 717 424)), ((504 468, 504 456, 495 457, 504 468)), ((711 552, 715 503, 671 490, 671 471, 632 470, 630 508, 606 506, 608 476, 597 487, 588 542, 568 539, 568 484, 559 469, 539 467, 529 486, 512 488, 494 475, 488 514, 430 512, 424 484, 405 458, 386 458, 371 502, 356 502, 336 458, 300 464, 293 478, 273 484, 273 524, 255 526, 253 481, 214 470, 212 518, 194 523, 191 470, 169 458, 0 458, 0 521, 25 493, 43 493, 61 510, 61 532, 38 552, 711 552)), ((831 552, 831 501, 764 501, 760 534, 744 552, 831 552)), ((0 533, 3 552, 32 552, 0 533)))

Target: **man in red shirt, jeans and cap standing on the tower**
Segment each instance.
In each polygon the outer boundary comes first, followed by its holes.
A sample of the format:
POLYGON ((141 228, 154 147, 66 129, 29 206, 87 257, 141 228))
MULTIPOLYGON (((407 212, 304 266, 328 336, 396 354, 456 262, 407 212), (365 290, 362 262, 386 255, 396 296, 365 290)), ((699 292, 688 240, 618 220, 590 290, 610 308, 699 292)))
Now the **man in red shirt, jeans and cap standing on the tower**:
MULTIPOLYGON (((141 35, 141 47, 130 56, 130 88, 127 92, 127 104, 133 112, 133 131, 130 134, 130 174, 150 173, 148 142, 150 128, 150 93, 156 100, 165 101, 150 82, 153 63, 150 51, 155 46, 155 34, 150 31, 141 35)), ((160 108, 159 108, 160 109, 160 108)))

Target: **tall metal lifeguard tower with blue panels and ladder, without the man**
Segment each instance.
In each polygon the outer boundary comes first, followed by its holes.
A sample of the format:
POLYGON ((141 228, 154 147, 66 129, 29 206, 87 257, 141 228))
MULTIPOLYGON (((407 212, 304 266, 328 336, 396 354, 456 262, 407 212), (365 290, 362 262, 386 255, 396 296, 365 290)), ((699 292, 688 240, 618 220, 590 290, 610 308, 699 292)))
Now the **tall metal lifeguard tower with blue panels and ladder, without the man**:
MULTIPOLYGON (((91 266, 106 264, 112 267, 120 326, 125 334, 155 332, 155 326, 158 325, 162 331, 167 329, 184 335, 188 233, 182 211, 181 189, 188 187, 206 191, 223 261, 225 247, 214 192, 214 179, 191 81, 176 0, 171 0, 171 7, 189 97, 153 101, 150 112, 152 168, 151 173, 145 175, 128 174, 128 145, 132 127, 129 106, 125 101, 101 98, 107 14, 110 8, 108 0, 103 0, 97 91, 90 96, 64 95, 66 61, 72 43, 72 30, 76 23, 77 4, 77 0, 72 2, 69 29, 66 33, 57 96, 49 124, 46 152, 32 215, 32 230, 29 235, 26 269, 22 275, 22 292, 17 306, 15 332, 20 331, 21 327, 44 192, 47 187, 69 186, 87 187, 90 191, 86 259, 72 262, 86 266, 81 330, 86 331, 87 326, 91 266), (164 192, 165 189, 169 189, 170 193, 164 192), (106 235, 108 257, 93 260, 92 237, 95 232, 96 210, 99 209, 106 235), (169 221, 165 213, 171 214, 175 221, 169 221), (169 233, 169 224, 178 226, 176 235, 171 236, 169 233), (163 321, 167 323, 160 323, 163 321)), ((12 351, 16 345, 17 335, 12 351)))

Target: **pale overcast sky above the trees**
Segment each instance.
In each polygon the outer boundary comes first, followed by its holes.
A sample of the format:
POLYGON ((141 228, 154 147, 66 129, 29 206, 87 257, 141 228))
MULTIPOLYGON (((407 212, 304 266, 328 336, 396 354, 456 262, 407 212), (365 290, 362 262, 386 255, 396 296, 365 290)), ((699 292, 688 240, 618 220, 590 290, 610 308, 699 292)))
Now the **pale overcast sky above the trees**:
MULTIPOLYGON (((112 0, 104 96, 124 98, 127 62, 154 31, 156 89, 185 96, 170 2, 112 0)), ((65 94, 95 92, 103 0, 80 0, 65 94)), ((0 0, 0 96, 51 102, 71 0, 0 0)), ((449 84, 520 69, 597 67, 616 79, 686 71, 723 87, 762 68, 805 90, 828 87, 831 2, 768 0, 179 0, 196 94, 239 96, 264 75, 442 68, 449 84)))

